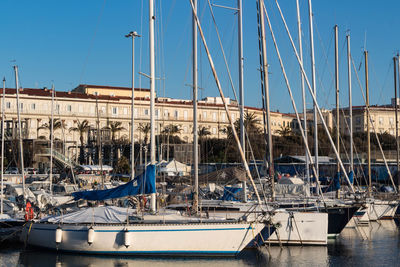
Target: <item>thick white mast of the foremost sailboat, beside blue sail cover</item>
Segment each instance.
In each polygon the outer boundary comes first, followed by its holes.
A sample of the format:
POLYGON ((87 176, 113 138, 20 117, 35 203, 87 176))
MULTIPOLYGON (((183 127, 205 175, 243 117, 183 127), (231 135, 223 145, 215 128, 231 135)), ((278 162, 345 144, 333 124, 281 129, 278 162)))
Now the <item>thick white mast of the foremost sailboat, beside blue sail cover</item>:
MULTIPOLYGON (((150 164, 156 164, 155 138, 155 61, 154 61, 154 0, 149 0, 149 54, 150 54, 150 164)), ((151 194, 150 208, 156 211, 156 194, 151 194)))

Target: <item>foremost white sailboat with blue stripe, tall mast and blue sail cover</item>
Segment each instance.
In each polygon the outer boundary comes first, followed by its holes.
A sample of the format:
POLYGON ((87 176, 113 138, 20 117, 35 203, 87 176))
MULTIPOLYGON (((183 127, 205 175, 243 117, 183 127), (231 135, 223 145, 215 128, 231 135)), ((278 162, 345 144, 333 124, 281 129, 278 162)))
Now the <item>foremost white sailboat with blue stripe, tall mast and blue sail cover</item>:
POLYGON ((76 200, 98 201, 150 194, 152 212, 144 214, 109 206, 50 216, 24 227, 21 240, 27 244, 91 254, 236 256, 245 247, 256 245, 255 237, 269 225, 265 213, 257 218, 243 215, 235 220, 216 220, 184 216, 177 211, 156 211, 153 13, 154 1, 149 0, 151 162, 143 174, 125 185, 73 194, 76 200))

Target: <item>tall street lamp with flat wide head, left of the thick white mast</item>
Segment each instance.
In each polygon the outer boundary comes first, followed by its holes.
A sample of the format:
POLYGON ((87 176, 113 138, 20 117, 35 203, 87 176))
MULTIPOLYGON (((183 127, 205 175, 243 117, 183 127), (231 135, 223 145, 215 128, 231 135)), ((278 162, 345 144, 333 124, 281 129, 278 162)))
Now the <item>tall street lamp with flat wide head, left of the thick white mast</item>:
POLYGON ((134 138, 134 101, 135 101, 135 37, 140 37, 137 32, 131 31, 126 38, 132 38, 132 103, 131 103, 131 179, 135 178, 135 138, 134 138))

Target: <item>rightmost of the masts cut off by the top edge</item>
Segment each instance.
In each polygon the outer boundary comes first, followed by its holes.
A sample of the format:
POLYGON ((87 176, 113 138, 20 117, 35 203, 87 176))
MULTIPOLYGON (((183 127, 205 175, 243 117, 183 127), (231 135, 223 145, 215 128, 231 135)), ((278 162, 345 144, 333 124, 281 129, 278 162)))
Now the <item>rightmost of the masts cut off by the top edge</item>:
MULTIPOLYGON (((313 14, 312 14, 312 6, 311 0, 308 0, 308 18, 309 18, 309 27, 310 27, 310 49, 311 49, 311 80, 312 80, 312 89, 315 96, 317 98, 317 85, 315 80, 315 58, 314 58, 314 27, 313 27, 313 14)), ((315 157, 315 170, 316 170, 316 179, 319 179, 319 159, 318 159, 318 117, 317 117, 317 108, 315 102, 313 103, 313 113, 314 113, 314 157, 315 157)))

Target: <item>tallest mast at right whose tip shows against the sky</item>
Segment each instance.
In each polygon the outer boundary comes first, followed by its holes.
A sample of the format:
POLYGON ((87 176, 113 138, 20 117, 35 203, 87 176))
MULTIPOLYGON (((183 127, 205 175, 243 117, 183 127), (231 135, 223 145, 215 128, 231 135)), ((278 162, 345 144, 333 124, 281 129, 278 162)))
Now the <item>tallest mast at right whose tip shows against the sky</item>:
MULTIPOLYGON (((338 155, 340 157, 340 131, 339 131, 339 47, 338 47, 338 26, 335 25, 335 88, 336 88, 336 149, 338 155)), ((339 179, 338 183, 340 184, 340 164, 339 157, 336 159, 336 175, 337 179, 339 179)), ((336 191, 336 197, 340 197, 340 188, 336 191)))

